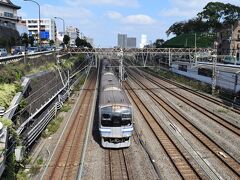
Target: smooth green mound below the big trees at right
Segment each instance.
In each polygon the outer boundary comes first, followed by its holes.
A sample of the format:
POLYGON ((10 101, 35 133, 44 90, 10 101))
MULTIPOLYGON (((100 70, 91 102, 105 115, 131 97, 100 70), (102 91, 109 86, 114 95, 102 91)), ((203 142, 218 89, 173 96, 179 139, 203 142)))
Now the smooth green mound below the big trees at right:
MULTIPOLYGON (((213 47, 216 35, 214 34, 196 34, 197 48, 209 48, 213 47)), ((195 33, 183 34, 176 36, 170 40, 167 40, 163 44, 164 48, 194 48, 195 47, 195 33)))

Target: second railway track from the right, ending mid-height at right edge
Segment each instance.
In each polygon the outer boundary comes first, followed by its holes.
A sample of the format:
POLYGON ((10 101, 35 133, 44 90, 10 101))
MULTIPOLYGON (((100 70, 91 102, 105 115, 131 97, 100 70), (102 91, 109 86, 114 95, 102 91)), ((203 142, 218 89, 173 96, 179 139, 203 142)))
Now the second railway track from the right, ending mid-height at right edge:
MULTIPOLYGON (((177 99, 183 101, 184 103, 188 104, 192 108, 194 108, 197 111, 201 112, 203 115, 205 115, 209 119, 217 122, 218 124, 220 124, 221 126, 225 127, 226 129, 230 130, 231 132, 233 132, 237 136, 240 136, 240 128, 237 125, 235 125, 234 123, 230 123, 229 121, 226 121, 221 116, 211 112, 209 109, 207 109, 206 107, 203 107, 202 105, 196 103, 194 100, 190 99, 189 97, 183 96, 183 95, 179 94, 176 90, 166 87, 165 85, 161 84, 157 80, 157 78, 149 77, 148 74, 144 74, 144 75, 145 75, 144 77, 147 80, 149 80, 151 83, 157 85, 160 89, 165 90, 166 92, 168 92, 172 96, 176 97, 177 99)), ((149 89, 149 87, 146 87, 146 86, 143 87, 143 88, 149 89)))

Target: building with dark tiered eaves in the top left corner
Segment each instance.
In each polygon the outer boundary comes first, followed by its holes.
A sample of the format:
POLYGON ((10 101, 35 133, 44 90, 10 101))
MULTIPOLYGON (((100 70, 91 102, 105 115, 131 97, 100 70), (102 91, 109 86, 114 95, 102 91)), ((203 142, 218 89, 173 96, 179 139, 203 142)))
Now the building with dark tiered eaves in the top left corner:
POLYGON ((16 23, 21 20, 17 16, 20 6, 14 5, 10 0, 0 0, 0 26, 16 30, 16 23))

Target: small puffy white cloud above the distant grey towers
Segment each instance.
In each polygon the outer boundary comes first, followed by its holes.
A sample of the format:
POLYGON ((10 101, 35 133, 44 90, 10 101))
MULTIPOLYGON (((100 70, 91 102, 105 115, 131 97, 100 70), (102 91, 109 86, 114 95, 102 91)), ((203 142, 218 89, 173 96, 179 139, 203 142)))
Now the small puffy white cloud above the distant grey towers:
POLYGON ((150 16, 144 15, 144 14, 123 16, 119 12, 110 11, 106 15, 110 19, 119 20, 121 23, 130 24, 130 25, 151 25, 156 22, 150 16))

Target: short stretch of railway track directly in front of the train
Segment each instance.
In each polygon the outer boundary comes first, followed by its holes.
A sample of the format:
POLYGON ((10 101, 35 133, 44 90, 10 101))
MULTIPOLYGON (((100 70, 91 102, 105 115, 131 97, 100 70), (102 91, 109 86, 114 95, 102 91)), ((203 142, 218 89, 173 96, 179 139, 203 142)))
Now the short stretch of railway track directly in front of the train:
POLYGON ((124 149, 105 150, 105 180, 134 179, 124 149))

